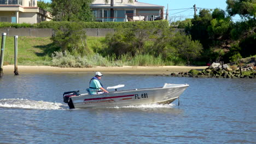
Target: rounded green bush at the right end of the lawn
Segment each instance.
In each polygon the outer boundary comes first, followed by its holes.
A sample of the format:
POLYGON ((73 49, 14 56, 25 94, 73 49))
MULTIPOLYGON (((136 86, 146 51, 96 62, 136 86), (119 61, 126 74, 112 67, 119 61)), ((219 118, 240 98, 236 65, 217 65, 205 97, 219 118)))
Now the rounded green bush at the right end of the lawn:
POLYGON ((62 52, 68 51, 73 54, 85 55, 88 53, 86 45, 86 31, 78 23, 70 23, 55 29, 51 38, 56 47, 62 52))

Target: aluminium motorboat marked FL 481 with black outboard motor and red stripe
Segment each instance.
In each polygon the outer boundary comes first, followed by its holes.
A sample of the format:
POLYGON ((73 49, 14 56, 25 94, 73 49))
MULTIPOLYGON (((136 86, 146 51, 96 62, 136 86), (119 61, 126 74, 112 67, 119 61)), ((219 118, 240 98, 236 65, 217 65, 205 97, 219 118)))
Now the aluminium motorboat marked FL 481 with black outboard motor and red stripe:
POLYGON ((124 87, 118 85, 107 87, 107 89, 115 89, 104 94, 89 93, 79 94, 79 91, 65 92, 63 101, 68 104, 70 109, 85 109, 89 107, 115 107, 130 106, 143 104, 170 104, 179 98, 188 84, 170 84, 165 83, 163 87, 156 88, 139 88, 117 91, 117 88, 124 87))

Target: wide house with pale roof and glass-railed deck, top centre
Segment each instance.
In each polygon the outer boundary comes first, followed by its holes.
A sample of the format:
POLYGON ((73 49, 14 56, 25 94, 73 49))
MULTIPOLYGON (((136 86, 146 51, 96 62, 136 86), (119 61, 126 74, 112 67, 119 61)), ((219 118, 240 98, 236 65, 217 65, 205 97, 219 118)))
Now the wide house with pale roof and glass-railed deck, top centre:
POLYGON ((153 21, 164 19, 164 6, 142 3, 133 0, 114 0, 113 4, 104 0, 95 0, 90 8, 96 21, 153 21))

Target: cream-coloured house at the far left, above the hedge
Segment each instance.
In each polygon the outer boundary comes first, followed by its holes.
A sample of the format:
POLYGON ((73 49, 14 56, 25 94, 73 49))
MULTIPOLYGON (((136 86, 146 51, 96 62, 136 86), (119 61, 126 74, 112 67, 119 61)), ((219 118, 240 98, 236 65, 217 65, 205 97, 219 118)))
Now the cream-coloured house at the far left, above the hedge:
POLYGON ((0 22, 39 23, 51 19, 48 11, 37 7, 37 0, 0 0, 0 22))

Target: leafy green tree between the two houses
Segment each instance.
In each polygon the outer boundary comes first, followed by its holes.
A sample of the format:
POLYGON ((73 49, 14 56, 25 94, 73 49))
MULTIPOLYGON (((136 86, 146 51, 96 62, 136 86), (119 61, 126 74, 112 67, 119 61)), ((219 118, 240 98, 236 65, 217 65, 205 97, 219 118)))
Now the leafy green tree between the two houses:
POLYGON ((92 21, 90 4, 93 0, 52 0, 53 15, 57 21, 92 21))

